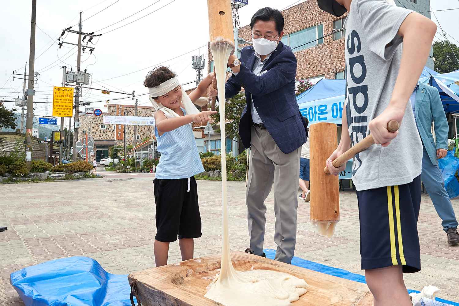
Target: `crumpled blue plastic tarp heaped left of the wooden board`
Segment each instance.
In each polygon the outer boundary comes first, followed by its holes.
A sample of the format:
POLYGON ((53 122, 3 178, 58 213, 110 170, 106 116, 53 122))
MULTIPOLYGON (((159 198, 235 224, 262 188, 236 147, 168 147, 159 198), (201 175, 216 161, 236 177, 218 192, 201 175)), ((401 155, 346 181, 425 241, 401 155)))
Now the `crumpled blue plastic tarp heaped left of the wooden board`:
POLYGON ((107 273, 88 257, 67 257, 24 268, 11 273, 10 283, 26 306, 131 305, 128 276, 107 273))

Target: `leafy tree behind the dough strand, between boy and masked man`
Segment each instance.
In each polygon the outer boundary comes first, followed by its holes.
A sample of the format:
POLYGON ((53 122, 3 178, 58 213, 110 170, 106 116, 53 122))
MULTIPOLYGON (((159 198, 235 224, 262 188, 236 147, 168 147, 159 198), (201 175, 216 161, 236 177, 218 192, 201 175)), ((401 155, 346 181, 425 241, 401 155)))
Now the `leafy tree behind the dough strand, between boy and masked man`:
MULTIPOLYGON (((241 114, 246 106, 246 95, 240 93, 234 97, 227 99, 225 103, 225 133, 230 139, 239 138, 239 122, 241 121, 241 114)), ((215 106, 215 110, 218 111, 216 114, 210 115, 213 121, 218 124, 220 123, 220 107, 215 106)), ((215 128, 217 133, 220 133, 220 127, 215 128)))

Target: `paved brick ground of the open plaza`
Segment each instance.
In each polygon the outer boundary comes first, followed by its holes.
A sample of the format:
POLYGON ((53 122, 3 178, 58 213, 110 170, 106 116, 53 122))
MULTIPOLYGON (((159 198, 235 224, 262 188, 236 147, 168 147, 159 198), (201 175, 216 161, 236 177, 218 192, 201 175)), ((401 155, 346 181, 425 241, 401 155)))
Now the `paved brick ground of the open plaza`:
MULTIPOLYGON (((66 256, 89 256, 111 273, 129 274, 154 267, 155 205, 152 174, 104 173, 106 178, 37 184, 0 185, 0 305, 22 306, 9 284, 10 273, 22 267, 66 256)), ((232 250, 248 246, 245 184, 228 183, 232 250)), ((195 256, 218 254, 221 241, 220 182, 198 182, 203 236, 195 256)), ((309 223, 309 205, 298 208, 296 256, 347 269, 360 270, 357 200, 341 192, 341 222, 332 239, 321 237, 309 223)), ((266 200, 265 247, 274 244, 274 197, 266 200)), ((459 200, 453 200, 459 215, 459 200)), ((422 197, 419 218, 422 271, 405 275, 407 286, 433 284, 440 297, 459 301, 459 246, 447 244, 431 200, 422 197)), ((180 260, 177 243, 169 263, 180 260)))

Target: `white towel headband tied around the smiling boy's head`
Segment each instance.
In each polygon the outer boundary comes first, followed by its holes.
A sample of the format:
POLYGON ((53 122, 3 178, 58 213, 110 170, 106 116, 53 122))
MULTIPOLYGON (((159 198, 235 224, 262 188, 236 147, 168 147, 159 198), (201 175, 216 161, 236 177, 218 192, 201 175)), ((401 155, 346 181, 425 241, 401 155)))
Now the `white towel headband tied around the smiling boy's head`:
MULTIPOLYGON (((180 117, 175 111, 163 106, 161 103, 158 103, 153 97, 159 97, 162 95, 166 95, 169 91, 179 86, 179 78, 174 77, 167 80, 164 83, 159 84, 157 87, 149 87, 148 91, 150 91, 150 102, 156 110, 160 110, 164 113, 164 116, 168 118, 172 117, 180 117)), ((182 89, 182 106, 185 108, 185 112, 187 115, 197 114, 199 113, 196 106, 191 102, 190 97, 186 94, 183 87, 180 86, 182 89)))

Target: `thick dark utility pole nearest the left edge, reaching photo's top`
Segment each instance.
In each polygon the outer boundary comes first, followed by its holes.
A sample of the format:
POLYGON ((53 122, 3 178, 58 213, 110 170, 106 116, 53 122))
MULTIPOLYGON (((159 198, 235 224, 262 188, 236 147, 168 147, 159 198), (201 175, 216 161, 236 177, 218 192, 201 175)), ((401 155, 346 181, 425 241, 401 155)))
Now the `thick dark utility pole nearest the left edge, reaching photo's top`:
MULTIPOLYGON (((34 127, 34 66, 35 66, 35 19, 37 15, 37 0, 32 0, 32 17, 30 21, 30 50, 29 75, 27 90, 27 120, 26 120, 26 163, 30 170, 32 162, 32 129, 34 127)), ((52 145, 52 144, 51 144, 52 145)))

